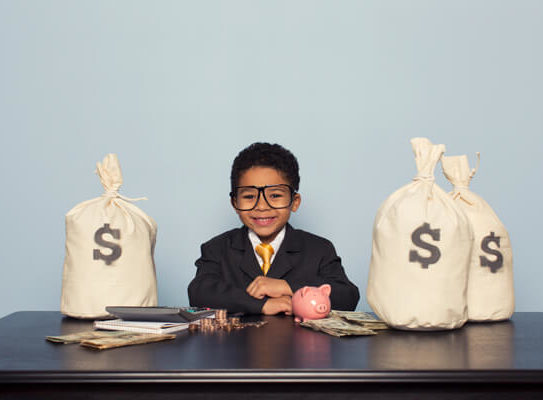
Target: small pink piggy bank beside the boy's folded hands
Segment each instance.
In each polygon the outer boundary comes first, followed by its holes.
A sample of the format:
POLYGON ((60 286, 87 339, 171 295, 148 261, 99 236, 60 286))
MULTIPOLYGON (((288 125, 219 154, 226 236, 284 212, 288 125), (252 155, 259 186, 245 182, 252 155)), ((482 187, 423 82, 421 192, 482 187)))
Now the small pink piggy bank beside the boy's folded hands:
POLYGON ((328 284, 319 287, 304 286, 292 296, 292 313, 294 321, 306 319, 321 319, 330 312, 330 292, 332 287, 328 284))

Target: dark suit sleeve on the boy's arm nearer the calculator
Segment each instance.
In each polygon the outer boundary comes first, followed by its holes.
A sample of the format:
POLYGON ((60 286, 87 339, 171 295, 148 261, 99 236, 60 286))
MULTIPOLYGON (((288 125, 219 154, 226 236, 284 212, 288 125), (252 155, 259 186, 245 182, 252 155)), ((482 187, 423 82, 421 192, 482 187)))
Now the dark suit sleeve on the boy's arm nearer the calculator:
POLYGON ((203 244, 201 252, 201 257, 196 260, 196 276, 188 287, 190 305, 260 314, 267 298, 255 299, 247 294, 245 288, 237 287, 224 279, 221 257, 217 254, 216 247, 203 244))

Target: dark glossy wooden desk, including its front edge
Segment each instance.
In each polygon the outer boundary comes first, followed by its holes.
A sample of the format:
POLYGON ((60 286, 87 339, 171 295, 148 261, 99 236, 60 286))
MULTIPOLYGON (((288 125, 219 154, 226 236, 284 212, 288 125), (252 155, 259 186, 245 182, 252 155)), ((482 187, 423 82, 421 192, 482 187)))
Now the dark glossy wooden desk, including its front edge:
POLYGON ((543 398, 543 313, 341 339, 263 318, 262 328, 96 351, 45 340, 90 322, 17 312, 0 319, 0 398, 543 398))

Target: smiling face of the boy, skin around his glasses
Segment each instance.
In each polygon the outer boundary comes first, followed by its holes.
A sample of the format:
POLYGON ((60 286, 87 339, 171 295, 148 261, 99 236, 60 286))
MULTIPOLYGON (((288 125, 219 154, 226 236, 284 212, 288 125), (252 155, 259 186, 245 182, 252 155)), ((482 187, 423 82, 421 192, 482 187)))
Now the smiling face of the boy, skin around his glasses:
MULTIPOLYGON (((289 182, 283 174, 270 167, 252 167, 241 174, 238 186, 270 186, 280 185, 289 182)), ((300 206, 301 197, 298 193, 294 195, 292 205, 288 208, 271 208, 264 196, 261 194, 256 207, 250 211, 239 211, 241 222, 252 229, 264 243, 269 243, 287 224, 290 213, 295 212, 300 206)))

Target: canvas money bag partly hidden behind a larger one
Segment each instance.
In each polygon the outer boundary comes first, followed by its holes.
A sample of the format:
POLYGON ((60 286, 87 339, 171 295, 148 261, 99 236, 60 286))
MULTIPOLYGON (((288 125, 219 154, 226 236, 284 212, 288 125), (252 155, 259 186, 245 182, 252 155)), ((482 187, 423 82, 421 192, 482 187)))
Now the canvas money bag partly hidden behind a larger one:
POLYGON ((469 319, 508 319, 515 308, 515 295, 513 252, 507 230, 490 205, 469 190, 477 168, 470 170, 465 155, 443 157, 441 165, 454 187, 450 195, 468 216, 474 234, 467 295, 469 319))

